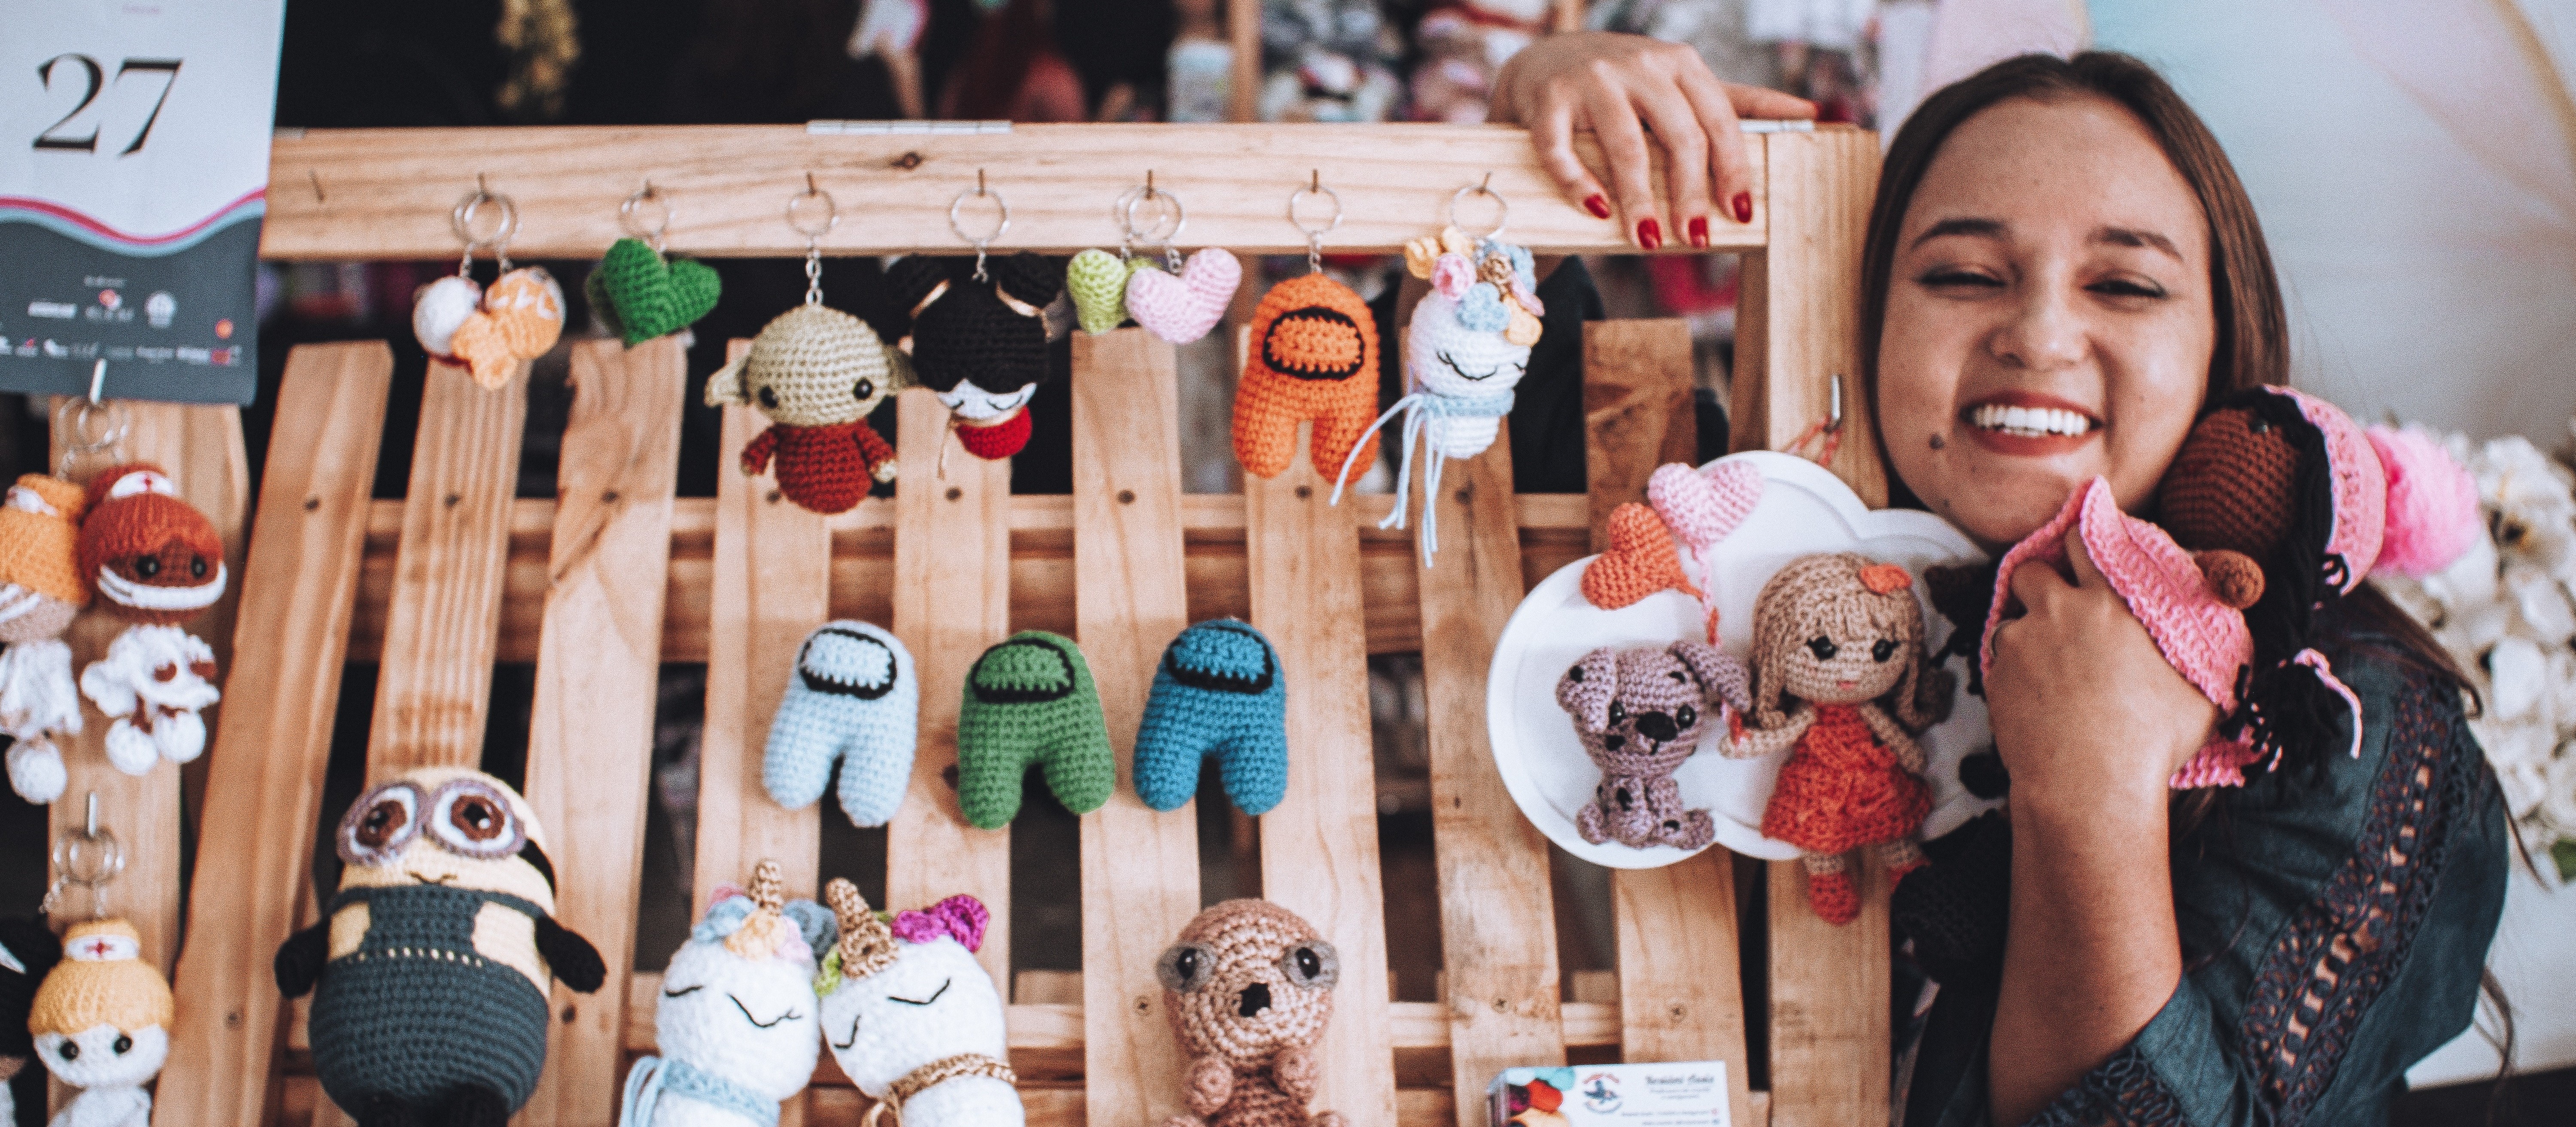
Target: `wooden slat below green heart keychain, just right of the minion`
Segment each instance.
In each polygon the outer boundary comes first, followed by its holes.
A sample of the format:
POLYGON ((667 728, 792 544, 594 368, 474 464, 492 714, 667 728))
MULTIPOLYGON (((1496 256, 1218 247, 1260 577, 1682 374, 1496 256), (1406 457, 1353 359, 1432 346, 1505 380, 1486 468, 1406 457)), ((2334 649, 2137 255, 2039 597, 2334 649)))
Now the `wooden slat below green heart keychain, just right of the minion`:
POLYGON ((554 919, 600 949, 608 983, 598 996, 556 983, 546 1070, 523 1124, 608 1127, 618 1117, 685 383, 675 337, 572 347, 526 793, 554 836, 554 919))

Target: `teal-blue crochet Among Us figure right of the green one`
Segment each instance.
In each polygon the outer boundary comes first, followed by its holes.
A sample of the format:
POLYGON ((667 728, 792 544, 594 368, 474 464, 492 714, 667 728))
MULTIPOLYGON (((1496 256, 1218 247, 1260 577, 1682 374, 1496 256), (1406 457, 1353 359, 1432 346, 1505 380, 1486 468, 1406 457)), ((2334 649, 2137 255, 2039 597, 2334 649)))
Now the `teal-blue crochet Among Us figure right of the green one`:
POLYGON ((1136 798, 1177 811, 1198 764, 1218 762, 1226 798, 1267 813, 1288 795, 1288 684, 1278 651, 1247 623, 1211 618, 1172 638, 1136 728, 1136 798))

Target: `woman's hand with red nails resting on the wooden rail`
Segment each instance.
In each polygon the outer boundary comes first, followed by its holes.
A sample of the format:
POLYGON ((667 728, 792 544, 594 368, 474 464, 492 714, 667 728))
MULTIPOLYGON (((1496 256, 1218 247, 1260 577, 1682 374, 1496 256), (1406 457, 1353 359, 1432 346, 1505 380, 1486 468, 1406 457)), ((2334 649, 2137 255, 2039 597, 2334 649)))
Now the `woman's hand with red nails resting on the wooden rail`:
POLYGON ((1752 221, 1754 175, 1736 118, 1814 118, 1816 105, 1757 85, 1718 82, 1700 51, 1646 36, 1569 31, 1512 57, 1494 80, 1494 121, 1530 126, 1538 160, 1566 198, 1610 219, 1643 250, 1664 239, 1708 244, 1708 216, 1752 221), (1574 157, 1589 129, 1610 162, 1610 188, 1574 157), (1659 216, 1646 134, 1664 147, 1672 214, 1659 216), (1669 224, 1669 226, 1667 226, 1669 224))

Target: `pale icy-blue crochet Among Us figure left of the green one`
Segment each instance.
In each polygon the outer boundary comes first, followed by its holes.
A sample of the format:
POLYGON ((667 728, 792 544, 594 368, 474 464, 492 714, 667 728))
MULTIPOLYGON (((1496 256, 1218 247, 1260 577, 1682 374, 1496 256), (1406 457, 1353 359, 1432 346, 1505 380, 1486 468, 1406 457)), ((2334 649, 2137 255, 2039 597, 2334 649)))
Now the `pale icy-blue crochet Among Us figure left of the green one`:
POLYGON ((796 674, 770 720, 760 785, 788 811, 822 798, 840 762, 840 811, 853 826, 884 826, 904 805, 922 684, 912 654, 884 628, 824 623, 796 648, 796 674))

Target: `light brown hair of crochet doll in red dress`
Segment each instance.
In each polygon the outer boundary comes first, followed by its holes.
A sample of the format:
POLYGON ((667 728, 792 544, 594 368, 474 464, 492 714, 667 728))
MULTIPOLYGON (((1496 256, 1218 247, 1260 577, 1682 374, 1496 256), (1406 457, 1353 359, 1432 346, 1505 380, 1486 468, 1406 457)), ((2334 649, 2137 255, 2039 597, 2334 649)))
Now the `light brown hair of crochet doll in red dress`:
POLYGON ((1860 553, 1801 556, 1783 566, 1754 600, 1754 728, 1788 723, 1795 700, 1783 684, 1793 648, 1816 633, 1868 636, 1893 641, 1904 656, 1896 687, 1880 702, 1906 731, 1924 731, 1947 710, 1950 679, 1932 672, 1924 656, 1924 615, 1914 602, 1914 576, 1896 564, 1873 564, 1860 553))

